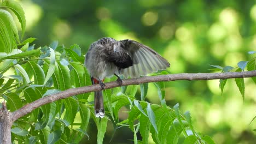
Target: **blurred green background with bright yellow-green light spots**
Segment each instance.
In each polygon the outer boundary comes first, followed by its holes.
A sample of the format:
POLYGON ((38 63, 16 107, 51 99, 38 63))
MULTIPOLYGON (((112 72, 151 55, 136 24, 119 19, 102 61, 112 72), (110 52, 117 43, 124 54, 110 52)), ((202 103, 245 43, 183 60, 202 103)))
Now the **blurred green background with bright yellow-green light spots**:
MULTIPOLYGON (((237 67, 239 61, 252 58, 247 52, 256 50, 255 2, 21 1, 27 20, 25 38, 38 38, 36 47, 57 40, 66 47, 79 44, 85 54, 102 37, 133 39, 161 53, 171 63, 168 70, 173 74, 210 73, 209 64, 237 67)), ((244 104, 232 79, 223 94, 219 80, 166 82, 165 99, 170 107, 179 103, 183 112, 189 110, 195 130, 210 135, 216 143, 254 143, 256 121, 249 123, 256 115, 256 88, 251 79, 245 83, 244 104)), ((159 104, 156 88, 149 86, 147 101, 159 104)), ((85 137, 81 143, 95 143, 93 121, 87 133, 90 140, 85 137)), ((104 143, 133 143, 132 139, 127 127, 113 133, 113 124, 108 123, 104 143)))

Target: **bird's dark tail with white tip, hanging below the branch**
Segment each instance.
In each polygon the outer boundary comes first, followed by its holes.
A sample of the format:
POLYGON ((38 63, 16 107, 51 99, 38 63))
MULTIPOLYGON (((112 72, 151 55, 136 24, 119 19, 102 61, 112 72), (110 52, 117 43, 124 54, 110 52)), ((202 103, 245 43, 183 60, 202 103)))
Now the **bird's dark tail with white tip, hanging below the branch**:
POLYGON ((105 115, 104 105, 103 105, 103 95, 102 91, 95 92, 94 95, 94 110, 95 116, 103 118, 105 115))

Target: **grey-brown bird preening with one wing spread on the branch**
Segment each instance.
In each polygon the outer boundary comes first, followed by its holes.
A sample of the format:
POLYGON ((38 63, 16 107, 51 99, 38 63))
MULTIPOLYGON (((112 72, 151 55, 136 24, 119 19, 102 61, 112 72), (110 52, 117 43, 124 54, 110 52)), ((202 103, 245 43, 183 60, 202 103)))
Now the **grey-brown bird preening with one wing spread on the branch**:
POLYGON ((158 70, 170 67, 170 63, 150 47, 135 40, 115 40, 102 38, 89 47, 85 55, 84 65, 88 70, 92 85, 100 84, 101 91, 94 95, 96 117, 104 117, 102 90, 106 86, 106 77, 117 76, 117 82, 122 84, 119 75, 136 78, 158 70))

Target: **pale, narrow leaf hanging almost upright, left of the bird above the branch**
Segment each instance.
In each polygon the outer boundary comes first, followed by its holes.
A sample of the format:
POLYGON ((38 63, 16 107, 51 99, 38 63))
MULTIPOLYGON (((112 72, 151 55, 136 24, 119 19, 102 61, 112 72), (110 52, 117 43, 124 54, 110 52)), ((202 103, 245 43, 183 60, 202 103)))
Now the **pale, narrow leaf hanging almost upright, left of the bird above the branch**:
POLYGON ((49 69, 47 71, 46 77, 44 79, 44 85, 46 84, 46 82, 50 79, 50 77, 53 75, 54 70, 55 70, 55 52, 53 49, 50 49, 50 65, 49 65, 49 69))

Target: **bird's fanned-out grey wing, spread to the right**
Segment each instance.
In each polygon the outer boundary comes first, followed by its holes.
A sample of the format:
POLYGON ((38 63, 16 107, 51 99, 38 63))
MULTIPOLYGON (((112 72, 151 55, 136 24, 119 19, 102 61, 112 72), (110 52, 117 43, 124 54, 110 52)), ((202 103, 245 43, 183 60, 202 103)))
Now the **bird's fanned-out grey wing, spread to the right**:
POLYGON ((170 67, 165 58, 146 45, 128 39, 120 40, 120 43, 133 62, 131 67, 119 71, 124 77, 139 77, 170 67))

